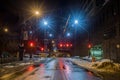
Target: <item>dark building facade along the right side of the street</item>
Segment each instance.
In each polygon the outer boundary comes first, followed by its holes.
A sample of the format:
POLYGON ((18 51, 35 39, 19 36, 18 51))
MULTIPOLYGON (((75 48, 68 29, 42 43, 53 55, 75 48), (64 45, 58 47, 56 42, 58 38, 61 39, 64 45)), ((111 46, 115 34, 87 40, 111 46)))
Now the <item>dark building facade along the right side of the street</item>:
MULTIPOLYGON (((97 9, 97 8, 96 8, 97 9)), ((91 25, 92 43, 101 44, 104 58, 120 60, 120 1, 106 0, 96 10, 91 25)))

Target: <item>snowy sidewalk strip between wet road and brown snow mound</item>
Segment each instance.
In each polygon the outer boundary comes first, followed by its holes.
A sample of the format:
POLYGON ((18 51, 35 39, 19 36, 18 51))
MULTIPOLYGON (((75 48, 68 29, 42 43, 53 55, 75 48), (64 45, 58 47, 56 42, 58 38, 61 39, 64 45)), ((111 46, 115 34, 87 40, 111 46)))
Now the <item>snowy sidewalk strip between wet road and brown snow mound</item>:
POLYGON ((93 67, 95 64, 101 64, 102 62, 90 62, 87 60, 82 59, 70 59, 75 64, 88 69, 89 71, 93 72, 97 76, 99 76, 102 80, 120 80, 120 71, 112 71, 108 69, 99 69, 93 67))

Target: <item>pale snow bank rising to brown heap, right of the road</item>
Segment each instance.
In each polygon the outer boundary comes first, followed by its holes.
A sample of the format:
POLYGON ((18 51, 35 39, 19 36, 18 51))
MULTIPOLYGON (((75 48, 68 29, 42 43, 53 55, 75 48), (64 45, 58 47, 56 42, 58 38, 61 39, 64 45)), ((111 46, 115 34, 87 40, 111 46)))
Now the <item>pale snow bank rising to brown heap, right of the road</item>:
POLYGON ((95 71, 109 71, 109 72, 118 72, 120 71, 120 64, 113 63, 109 59, 103 59, 101 61, 96 61, 96 62, 89 62, 87 60, 82 60, 82 59, 73 59, 73 62, 76 64, 85 67, 87 69, 92 69, 95 71))

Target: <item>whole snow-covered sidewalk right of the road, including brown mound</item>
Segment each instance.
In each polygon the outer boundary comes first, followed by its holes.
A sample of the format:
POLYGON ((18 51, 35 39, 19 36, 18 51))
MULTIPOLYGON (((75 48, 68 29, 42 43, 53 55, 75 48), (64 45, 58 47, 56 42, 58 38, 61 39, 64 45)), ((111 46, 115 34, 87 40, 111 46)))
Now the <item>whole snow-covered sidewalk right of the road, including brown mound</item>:
POLYGON ((101 61, 90 62, 82 59, 70 59, 75 64, 92 71, 103 80, 120 80, 120 64, 103 59, 101 61), (112 76, 111 76, 112 75, 112 76))

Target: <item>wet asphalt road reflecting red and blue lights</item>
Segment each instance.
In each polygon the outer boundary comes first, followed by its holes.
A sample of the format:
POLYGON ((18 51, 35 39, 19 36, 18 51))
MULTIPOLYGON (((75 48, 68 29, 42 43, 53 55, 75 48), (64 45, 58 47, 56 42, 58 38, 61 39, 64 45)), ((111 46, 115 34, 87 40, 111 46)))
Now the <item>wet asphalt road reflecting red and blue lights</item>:
POLYGON ((92 72, 79 67, 68 59, 56 58, 31 65, 15 80, 101 80, 92 72))

